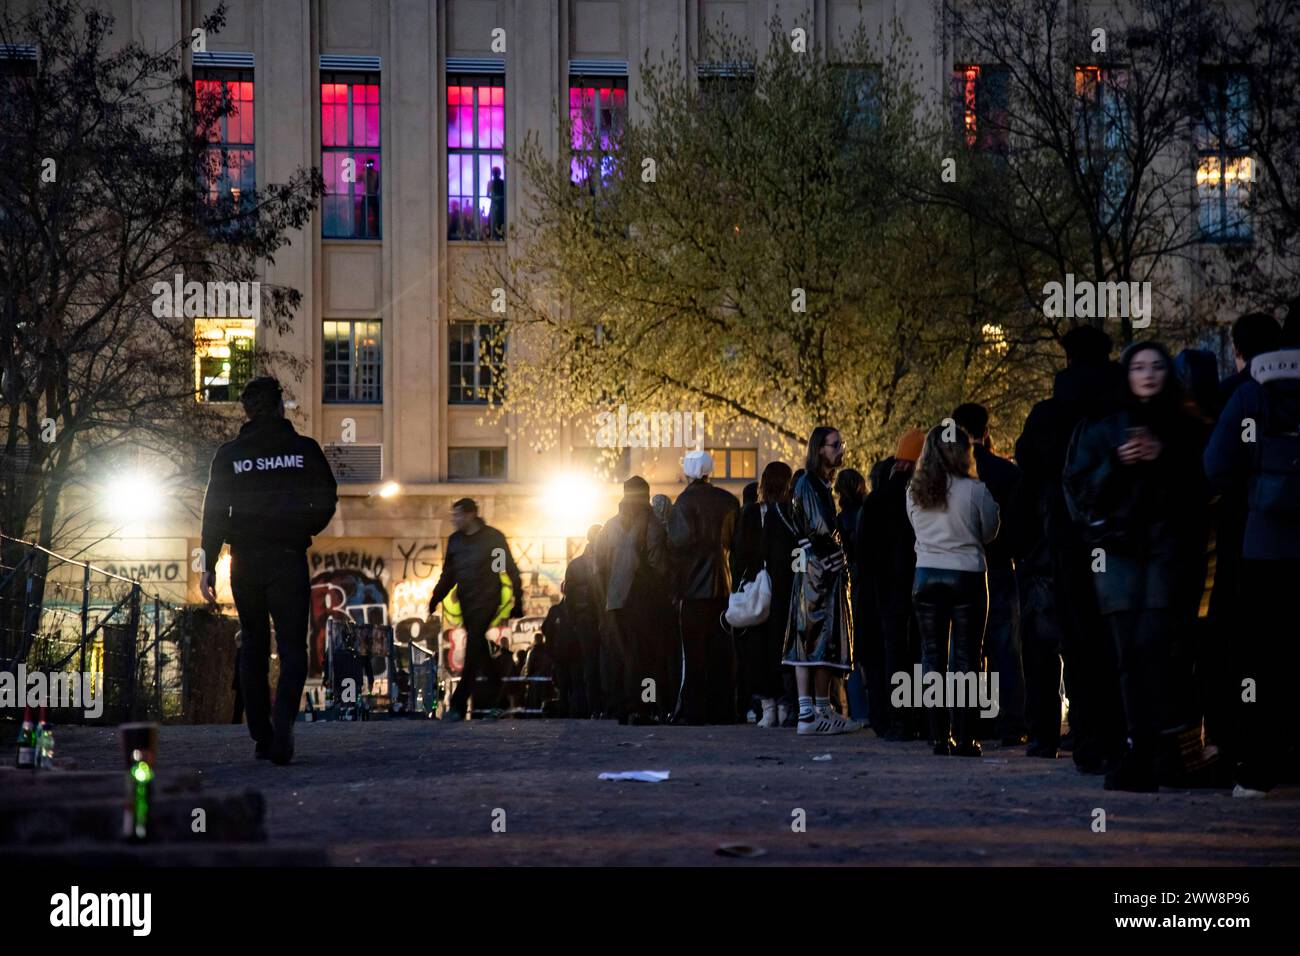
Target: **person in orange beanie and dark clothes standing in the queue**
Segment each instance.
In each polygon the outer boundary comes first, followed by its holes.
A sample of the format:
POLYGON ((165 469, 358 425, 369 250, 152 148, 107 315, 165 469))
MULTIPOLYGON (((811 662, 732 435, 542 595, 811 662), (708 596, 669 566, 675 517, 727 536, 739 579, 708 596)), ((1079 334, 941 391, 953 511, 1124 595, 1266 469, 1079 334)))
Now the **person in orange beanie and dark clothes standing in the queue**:
MULTIPOLYGON (((911 674, 920 663, 920 635, 911 607, 911 581, 916 574, 916 535, 907 519, 907 481, 920 458, 926 433, 909 428, 898 438, 893 455, 871 470, 874 481, 862 511, 858 514, 858 572, 855 580, 875 589, 880 609, 879 653, 870 653, 867 693, 889 701, 890 678, 911 674)), ((920 734, 920 715, 911 709, 888 702, 881 724, 872 730, 885 740, 914 740, 920 734)))

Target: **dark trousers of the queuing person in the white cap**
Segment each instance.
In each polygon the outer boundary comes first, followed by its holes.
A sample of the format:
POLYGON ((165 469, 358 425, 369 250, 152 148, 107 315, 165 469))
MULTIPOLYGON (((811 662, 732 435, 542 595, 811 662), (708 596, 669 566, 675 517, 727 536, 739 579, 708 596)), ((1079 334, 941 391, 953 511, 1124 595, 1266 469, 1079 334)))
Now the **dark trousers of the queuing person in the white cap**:
POLYGON ((681 602, 684 678, 676 715, 686 723, 736 721, 736 653, 720 623, 725 610, 725 597, 681 602))

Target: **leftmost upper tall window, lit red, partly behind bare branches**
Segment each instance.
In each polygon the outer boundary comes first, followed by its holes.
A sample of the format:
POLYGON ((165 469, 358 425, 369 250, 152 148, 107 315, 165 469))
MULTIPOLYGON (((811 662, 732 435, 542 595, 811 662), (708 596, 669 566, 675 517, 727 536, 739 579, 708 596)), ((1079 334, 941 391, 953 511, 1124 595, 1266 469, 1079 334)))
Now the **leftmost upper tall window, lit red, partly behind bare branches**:
POLYGON ((198 70, 194 91, 204 108, 220 105, 222 98, 230 101, 230 112, 207 130, 203 183, 208 203, 216 206, 228 199, 238 208, 240 202, 255 202, 252 70, 198 70))

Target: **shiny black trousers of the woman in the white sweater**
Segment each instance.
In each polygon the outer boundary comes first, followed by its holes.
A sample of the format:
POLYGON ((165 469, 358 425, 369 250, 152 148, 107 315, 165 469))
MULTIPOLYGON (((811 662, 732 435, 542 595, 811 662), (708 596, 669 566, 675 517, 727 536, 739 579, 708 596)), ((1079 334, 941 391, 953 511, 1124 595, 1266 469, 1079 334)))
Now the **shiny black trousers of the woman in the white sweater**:
MULTIPOLYGON (((984 572, 918 567, 914 580, 911 604, 920 630, 922 671, 944 675, 949 671, 950 659, 953 672, 978 675, 984 669, 984 624, 988 619, 988 584, 984 572)), ((946 702, 954 704, 952 735, 957 743, 974 741, 979 726, 978 701, 967 698, 966 706, 946 702)), ((948 740, 948 708, 930 708, 928 711, 931 740, 948 740)))

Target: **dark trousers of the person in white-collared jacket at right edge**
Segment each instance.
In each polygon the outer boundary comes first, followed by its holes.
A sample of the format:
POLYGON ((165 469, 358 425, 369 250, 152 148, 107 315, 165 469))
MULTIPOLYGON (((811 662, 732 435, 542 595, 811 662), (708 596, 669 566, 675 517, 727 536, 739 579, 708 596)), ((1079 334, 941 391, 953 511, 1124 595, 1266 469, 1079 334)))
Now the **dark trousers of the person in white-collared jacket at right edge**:
POLYGON ((1236 632, 1240 665, 1235 705, 1242 749, 1236 782, 1256 790, 1270 790, 1296 770, 1292 727, 1294 682, 1300 667, 1300 643, 1295 637, 1297 581, 1297 559, 1242 562, 1244 627, 1236 632))

